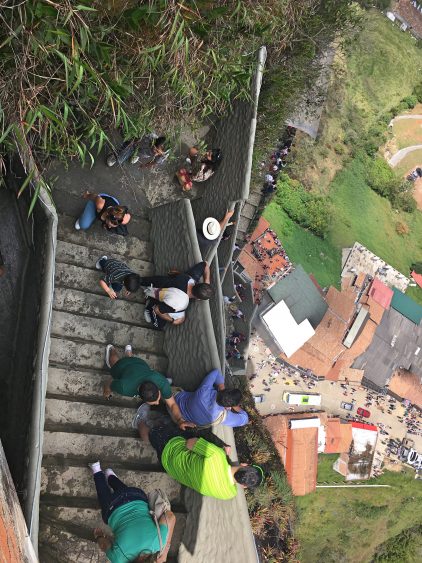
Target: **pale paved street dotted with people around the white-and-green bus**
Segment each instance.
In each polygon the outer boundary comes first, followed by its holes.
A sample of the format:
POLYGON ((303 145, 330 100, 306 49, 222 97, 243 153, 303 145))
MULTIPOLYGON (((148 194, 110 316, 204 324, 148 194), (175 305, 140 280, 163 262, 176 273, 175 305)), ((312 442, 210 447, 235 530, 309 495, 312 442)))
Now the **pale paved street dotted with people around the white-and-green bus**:
MULTIPOLYGON (((253 395, 264 394, 265 397, 264 402, 257 405, 261 415, 265 416, 284 412, 307 412, 311 410, 312 407, 292 407, 291 405, 287 405, 287 403, 282 400, 284 391, 320 393, 322 404, 321 407, 315 407, 315 409, 318 410, 321 408, 330 415, 341 416, 342 418, 346 418, 348 414, 347 411, 340 407, 342 401, 351 402, 352 399, 354 399, 356 401, 355 412, 358 407, 365 408, 368 393, 366 388, 349 385, 348 390, 345 391, 340 386, 340 383, 321 381, 316 383, 315 387, 309 389, 301 377, 292 377, 278 362, 275 362, 274 356, 269 354, 268 348, 265 347, 265 344, 257 335, 251 339, 249 356, 251 361, 248 366, 248 375, 250 376, 257 373, 257 377, 251 380, 251 392, 253 395), (260 367, 263 362, 266 362, 266 364, 260 367), (275 370, 278 369, 280 369, 280 373, 276 375, 275 370), (271 374, 274 375, 274 382, 269 384, 271 374), (265 380, 268 385, 263 383, 263 380, 265 380), (270 390, 264 391, 264 388, 269 388, 270 390), (353 392, 352 389, 355 389, 355 391, 353 392), (344 395, 345 392, 347 395, 344 395)), ((376 395, 375 392, 371 391, 371 393, 376 395)), ((402 440, 407 435, 405 423, 398 420, 398 416, 404 413, 404 407, 396 401, 396 409, 393 411, 393 414, 388 414, 387 408, 384 408, 382 405, 386 404, 390 398, 386 398, 382 395, 379 395, 378 398, 381 406, 377 408, 374 402, 371 407, 368 407, 371 416, 369 419, 365 419, 365 421, 372 424, 384 424, 389 435, 379 435, 376 448, 379 453, 375 456, 375 466, 381 463, 385 455, 386 444, 382 444, 381 441, 387 441, 389 438, 402 440), (380 410, 381 408, 384 408, 384 413, 380 410), (379 460, 379 462, 377 462, 377 460, 379 460)), ((419 422, 421 423, 420 417, 419 422)), ((408 438, 414 440, 415 449, 422 452, 422 436, 412 434, 408 435, 408 438)), ((395 458, 393 457, 393 459, 395 458)))

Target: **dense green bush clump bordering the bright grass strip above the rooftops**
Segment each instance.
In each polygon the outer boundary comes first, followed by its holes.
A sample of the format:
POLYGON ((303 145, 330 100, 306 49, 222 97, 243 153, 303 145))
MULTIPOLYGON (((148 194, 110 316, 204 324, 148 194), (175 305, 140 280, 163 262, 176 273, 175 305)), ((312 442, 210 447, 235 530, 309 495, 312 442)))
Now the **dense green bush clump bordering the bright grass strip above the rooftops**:
POLYGON ((326 198, 306 191, 300 182, 287 174, 280 174, 275 200, 293 221, 324 238, 331 213, 326 198))

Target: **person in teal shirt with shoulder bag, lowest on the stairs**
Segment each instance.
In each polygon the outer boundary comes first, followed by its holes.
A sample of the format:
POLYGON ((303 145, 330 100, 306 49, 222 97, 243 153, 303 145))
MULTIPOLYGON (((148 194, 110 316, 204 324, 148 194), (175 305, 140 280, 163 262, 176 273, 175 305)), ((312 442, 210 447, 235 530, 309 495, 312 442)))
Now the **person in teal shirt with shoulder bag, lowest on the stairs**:
POLYGON ((128 487, 112 469, 103 472, 99 461, 90 464, 90 467, 103 522, 113 532, 113 537, 110 537, 101 528, 96 528, 94 536, 109 561, 167 561, 176 522, 174 514, 167 511, 161 516, 158 532, 149 513, 148 497, 142 489, 128 487))

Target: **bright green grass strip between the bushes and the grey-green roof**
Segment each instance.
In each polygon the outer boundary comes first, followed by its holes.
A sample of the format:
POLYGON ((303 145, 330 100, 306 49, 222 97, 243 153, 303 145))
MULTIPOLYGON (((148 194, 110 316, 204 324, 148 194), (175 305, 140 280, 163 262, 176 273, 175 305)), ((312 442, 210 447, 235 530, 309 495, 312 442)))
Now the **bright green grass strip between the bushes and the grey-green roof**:
POLYGON ((328 240, 322 240, 294 223, 275 202, 270 203, 264 217, 271 223, 289 257, 314 274, 321 287, 339 287, 341 252, 328 240))

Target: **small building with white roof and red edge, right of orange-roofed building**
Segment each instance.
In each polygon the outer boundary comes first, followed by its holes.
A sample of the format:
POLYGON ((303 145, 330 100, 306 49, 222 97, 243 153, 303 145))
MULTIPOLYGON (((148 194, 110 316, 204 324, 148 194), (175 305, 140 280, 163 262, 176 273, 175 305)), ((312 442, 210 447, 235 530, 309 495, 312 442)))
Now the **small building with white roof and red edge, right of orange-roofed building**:
POLYGON ((372 424, 352 422, 352 443, 350 451, 342 453, 333 469, 343 475, 346 481, 369 479, 378 439, 378 428, 372 424))

